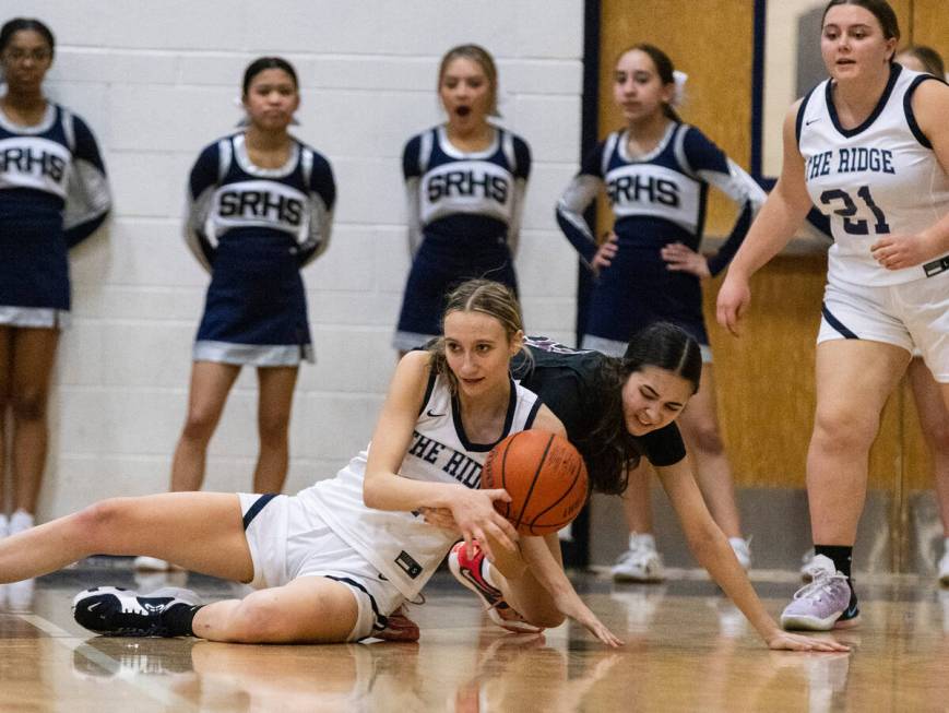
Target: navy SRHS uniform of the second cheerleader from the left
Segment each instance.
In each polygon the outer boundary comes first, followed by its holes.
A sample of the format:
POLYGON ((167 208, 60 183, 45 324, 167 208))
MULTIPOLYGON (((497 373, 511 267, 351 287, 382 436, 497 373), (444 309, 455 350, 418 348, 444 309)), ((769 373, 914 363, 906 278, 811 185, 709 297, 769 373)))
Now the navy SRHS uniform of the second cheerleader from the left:
POLYGON ((297 140, 280 168, 254 166, 244 133, 201 152, 186 219, 188 246, 211 272, 195 361, 313 361, 300 269, 330 242, 335 195, 330 164, 297 140))

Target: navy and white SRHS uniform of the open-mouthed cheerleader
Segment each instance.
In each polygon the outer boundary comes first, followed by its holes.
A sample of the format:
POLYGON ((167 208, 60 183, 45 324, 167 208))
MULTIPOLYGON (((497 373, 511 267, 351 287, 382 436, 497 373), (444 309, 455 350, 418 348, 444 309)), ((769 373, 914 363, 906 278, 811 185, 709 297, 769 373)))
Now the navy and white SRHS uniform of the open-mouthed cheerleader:
POLYGON ((412 270, 393 346, 407 352, 441 333, 444 298, 460 283, 485 277, 517 292, 518 247, 531 151, 495 127, 485 151, 452 146, 444 127, 405 145, 412 270))

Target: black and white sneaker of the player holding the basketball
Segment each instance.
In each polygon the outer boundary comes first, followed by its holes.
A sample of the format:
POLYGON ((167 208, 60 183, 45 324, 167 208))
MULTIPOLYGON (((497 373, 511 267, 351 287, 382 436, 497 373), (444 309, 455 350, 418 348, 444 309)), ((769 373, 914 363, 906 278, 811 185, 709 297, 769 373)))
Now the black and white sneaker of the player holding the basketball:
POLYGON ((202 604, 191 590, 166 586, 151 594, 117 586, 94 586, 72 601, 76 623, 90 631, 111 637, 169 637, 164 614, 174 606, 202 604))

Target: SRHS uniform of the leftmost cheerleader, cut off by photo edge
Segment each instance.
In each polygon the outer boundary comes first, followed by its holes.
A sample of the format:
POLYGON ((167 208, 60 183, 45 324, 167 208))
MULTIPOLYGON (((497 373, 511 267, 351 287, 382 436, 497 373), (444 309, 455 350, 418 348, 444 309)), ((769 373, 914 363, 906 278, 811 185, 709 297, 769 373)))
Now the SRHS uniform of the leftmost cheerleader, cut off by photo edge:
POLYGON ((32 127, 0 110, 0 324, 68 323, 67 253, 110 205, 105 166, 82 119, 51 102, 32 127))

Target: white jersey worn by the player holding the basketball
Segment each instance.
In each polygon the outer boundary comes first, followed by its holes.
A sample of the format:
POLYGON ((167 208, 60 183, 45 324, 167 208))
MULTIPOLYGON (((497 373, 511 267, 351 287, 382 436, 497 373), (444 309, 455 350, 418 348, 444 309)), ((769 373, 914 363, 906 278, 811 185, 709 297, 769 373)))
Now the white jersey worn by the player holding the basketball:
MULTIPOLYGON (((447 381, 432 376, 399 475, 430 483, 481 487, 482 467, 496 443, 472 443, 464 433, 458 400, 447 381)), ((511 382, 511 400, 501 438, 531 427, 541 401, 511 382)), ((333 531, 363 555, 406 598, 414 598, 459 536, 429 525, 413 512, 373 510, 363 501, 369 447, 335 478, 299 492, 333 531)))

